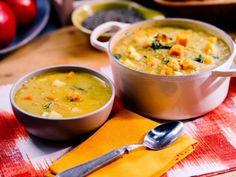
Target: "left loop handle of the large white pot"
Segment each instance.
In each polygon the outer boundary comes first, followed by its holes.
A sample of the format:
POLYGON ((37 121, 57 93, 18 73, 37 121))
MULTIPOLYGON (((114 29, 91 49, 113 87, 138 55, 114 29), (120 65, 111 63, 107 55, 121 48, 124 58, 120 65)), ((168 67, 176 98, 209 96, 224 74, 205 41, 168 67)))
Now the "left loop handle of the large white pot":
POLYGON ((111 30, 113 27, 118 27, 119 30, 122 30, 122 29, 127 28, 129 25, 130 24, 128 23, 120 23, 120 22, 113 22, 113 21, 101 24, 93 30, 90 36, 90 43, 93 47, 106 52, 108 50, 109 41, 107 42, 98 41, 99 36, 111 30))

